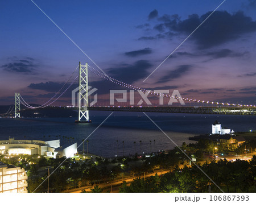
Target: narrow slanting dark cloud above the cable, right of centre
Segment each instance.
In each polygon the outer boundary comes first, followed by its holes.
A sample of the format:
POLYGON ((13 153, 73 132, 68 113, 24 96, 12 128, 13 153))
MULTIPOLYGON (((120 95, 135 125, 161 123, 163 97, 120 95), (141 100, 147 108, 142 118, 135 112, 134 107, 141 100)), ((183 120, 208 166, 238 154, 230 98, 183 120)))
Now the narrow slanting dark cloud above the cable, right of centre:
POLYGON ((182 77, 185 73, 191 71, 192 65, 179 65, 176 69, 169 71, 166 76, 160 78, 157 83, 171 81, 182 77))

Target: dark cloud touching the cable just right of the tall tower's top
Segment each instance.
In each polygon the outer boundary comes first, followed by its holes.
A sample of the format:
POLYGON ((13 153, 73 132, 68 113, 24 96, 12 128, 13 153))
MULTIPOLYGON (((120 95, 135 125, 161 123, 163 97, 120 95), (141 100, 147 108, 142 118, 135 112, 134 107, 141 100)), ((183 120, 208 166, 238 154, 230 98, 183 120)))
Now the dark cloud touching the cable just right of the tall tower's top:
POLYGON ((147 76, 147 70, 152 67, 152 64, 147 60, 138 60, 134 64, 121 64, 117 68, 108 70, 108 73, 128 84, 131 84, 139 79, 147 76))

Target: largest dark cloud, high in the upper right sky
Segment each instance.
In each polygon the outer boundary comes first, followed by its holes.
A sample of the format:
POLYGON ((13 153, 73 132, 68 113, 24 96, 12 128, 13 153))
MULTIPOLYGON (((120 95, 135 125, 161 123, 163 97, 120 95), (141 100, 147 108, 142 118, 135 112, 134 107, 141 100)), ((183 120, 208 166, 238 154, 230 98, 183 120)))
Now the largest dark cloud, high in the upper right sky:
MULTIPOLYGON (((200 18, 198 15, 189 16, 188 19, 180 21, 175 30, 191 34, 209 14, 210 12, 200 18)), ((241 11, 233 15, 227 11, 216 11, 192 35, 192 39, 196 41, 199 48, 205 49, 238 39, 242 34, 253 31, 256 31, 256 22, 245 16, 241 11)))

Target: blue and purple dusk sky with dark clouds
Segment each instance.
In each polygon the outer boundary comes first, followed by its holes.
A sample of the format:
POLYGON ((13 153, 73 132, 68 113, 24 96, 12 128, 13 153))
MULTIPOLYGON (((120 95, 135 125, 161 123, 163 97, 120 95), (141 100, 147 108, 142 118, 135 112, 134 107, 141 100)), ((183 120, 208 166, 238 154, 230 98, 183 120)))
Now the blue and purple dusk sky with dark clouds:
MULTIPOLYGON (((195 32, 223 1, 34 2, 110 77, 177 89, 185 98, 256 105, 255 0, 226 0, 195 32)), ((0 105, 13 104, 15 92, 28 103, 48 101, 79 61, 98 69, 31 0, 0 1, 0 46, 0 105)), ((102 100, 120 89, 97 76, 90 81, 102 100)), ((76 86, 53 104, 70 105, 76 86)))

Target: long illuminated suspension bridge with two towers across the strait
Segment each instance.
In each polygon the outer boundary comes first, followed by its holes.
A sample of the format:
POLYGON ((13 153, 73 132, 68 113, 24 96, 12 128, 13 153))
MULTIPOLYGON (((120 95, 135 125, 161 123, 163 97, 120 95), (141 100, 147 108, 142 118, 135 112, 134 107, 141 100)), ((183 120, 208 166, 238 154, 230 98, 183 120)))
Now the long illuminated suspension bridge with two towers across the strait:
POLYGON ((224 102, 213 102, 213 101, 202 101, 195 100, 191 98, 184 98, 177 95, 169 95, 164 93, 158 93, 151 90, 146 90, 144 88, 139 88, 138 86, 130 85, 125 82, 119 81, 115 78, 107 76, 105 73, 98 71, 97 69, 91 67, 87 63, 82 65, 79 62, 79 66, 75 69, 75 71, 71 74, 65 84, 60 88, 60 90, 46 103, 39 106, 31 106, 26 102, 20 93, 15 93, 15 103, 12 107, 10 106, 9 110, 5 114, 1 114, 2 117, 14 117, 20 118, 21 114, 24 111, 34 111, 40 109, 72 109, 78 111, 78 119, 77 123, 90 123, 89 119, 89 110, 97 110, 97 111, 135 111, 135 112, 156 112, 156 113, 186 113, 186 114, 233 114, 233 115, 256 115, 256 107, 255 105, 241 105, 235 103, 224 103, 224 102), (69 80, 75 74, 79 68, 79 74, 75 77, 75 79, 69 84, 69 80), (154 95, 163 98, 169 98, 175 101, 187 101, 196 103, 196 106, 90 106, 89 103, 89 95, 92 94, 90 92, 90 86, 88 81, 88 71, 93 74, 104 78, 114 84, 119 86, 123 86, 130 90, 137 90, 145 95, 154 95), (72 84, 79 78, 79 87, 77 88, 77 106, 72 107, 55 107, 52 105, 55 101, 57 101, 67 90, 72 86, 72 84), (64 86, 68 85, 68 87, 64 89, 64 86), (63 90, 63 91, 62 91, 63 90), (25 106, 25 109, 20 109, 20 103, 25 106), (204 106, 205 105, 205 106, 204 106), (209 106, 208 106, 209 105, 209 106), (210 106, 212 105, 212 106, 210 106), (13 111, 14 109, 14 111, 13 111))

